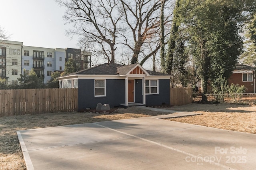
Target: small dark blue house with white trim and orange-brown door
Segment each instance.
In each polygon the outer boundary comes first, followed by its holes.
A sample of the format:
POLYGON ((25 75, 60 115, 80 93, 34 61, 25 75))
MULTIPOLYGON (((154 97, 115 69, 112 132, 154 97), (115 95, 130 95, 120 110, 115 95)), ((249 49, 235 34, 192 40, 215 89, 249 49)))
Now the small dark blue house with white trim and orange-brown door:
POLYGON ((110 107, 170 105, 170 75, 140 64, 100 64, 58 78, 60 88, 78 88, 78 111, 98 103, 110 107))

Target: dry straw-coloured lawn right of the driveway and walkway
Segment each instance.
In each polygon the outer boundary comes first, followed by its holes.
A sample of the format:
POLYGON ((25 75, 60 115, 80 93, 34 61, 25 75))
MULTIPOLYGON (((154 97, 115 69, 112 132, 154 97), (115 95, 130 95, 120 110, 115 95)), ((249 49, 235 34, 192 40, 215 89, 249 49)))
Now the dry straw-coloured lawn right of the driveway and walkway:
POLYGON ((256 106, 235 104, 188 104, 169 109, 202 115, 168 119, 182 123, 256 134, 256 106))

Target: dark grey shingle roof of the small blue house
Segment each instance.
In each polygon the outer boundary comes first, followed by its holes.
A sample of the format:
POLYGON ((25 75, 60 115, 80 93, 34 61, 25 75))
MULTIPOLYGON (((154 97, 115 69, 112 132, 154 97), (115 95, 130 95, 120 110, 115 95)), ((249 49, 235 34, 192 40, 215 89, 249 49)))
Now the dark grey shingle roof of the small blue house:
MULTIPOLYGON (((132 68, 134 68, 136 64, 130 65, 121 65, 121 64, 100 64, 98 66, 94 66, 92 68, 86 68, 84 70, 80 70, 78 72, 73 72, 65 76, 75 75, 75 74, 99 74, 99 75, 125 75, 127 74, 132 68)), ((168 74, 164 74, 161 72, 155 72, 146 70, 150 76, 166 76, 168 74)))

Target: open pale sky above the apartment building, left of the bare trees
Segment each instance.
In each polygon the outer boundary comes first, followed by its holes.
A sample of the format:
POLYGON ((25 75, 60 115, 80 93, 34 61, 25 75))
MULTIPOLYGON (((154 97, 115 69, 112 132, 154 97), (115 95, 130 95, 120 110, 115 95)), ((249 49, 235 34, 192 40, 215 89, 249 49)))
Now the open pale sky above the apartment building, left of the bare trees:
POLYGON ((0 26, 10 34, 10 41, 46 48, 79 48, 77 37, 67 37, 64 7, 54 0, 1 0, 0 26))

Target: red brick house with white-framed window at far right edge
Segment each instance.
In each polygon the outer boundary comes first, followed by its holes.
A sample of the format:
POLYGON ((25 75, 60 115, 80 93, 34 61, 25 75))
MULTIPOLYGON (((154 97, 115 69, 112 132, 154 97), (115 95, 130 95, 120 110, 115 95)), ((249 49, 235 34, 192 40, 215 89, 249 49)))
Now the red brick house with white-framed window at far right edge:
POLYGON ((233 74, 228 79, 228 84, 244 85, 246 93, 255 93, 255 67, 236 64, 233 74))

